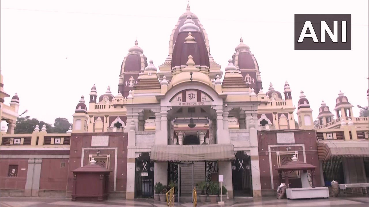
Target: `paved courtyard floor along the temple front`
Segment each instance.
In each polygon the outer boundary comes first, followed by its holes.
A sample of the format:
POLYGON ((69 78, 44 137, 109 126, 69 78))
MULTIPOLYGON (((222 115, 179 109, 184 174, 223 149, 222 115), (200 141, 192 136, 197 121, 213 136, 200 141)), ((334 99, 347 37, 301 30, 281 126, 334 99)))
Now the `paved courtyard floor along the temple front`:
MULTIPOLYGON (((262 199, 230 199, 225 206, 235 207, 368 207, 368 197, 330 197, 312 200, 277 200, 275 197, 262 199)), ((104 202, 79 202, 66 198, 1 197, 0 207, 166 207, 166 203, 153 200, 109 199, 104 202)), ((193 207, 192 203, 175 204, 176 207, 193 207)), ((215 207, 218 204, 198 203, 198 207, 215 207)))

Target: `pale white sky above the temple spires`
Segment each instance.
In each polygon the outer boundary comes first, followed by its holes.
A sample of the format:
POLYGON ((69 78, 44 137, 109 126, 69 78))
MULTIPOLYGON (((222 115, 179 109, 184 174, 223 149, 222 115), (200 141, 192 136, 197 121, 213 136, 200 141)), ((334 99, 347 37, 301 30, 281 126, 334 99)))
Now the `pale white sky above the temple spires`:
MULTIPOLYGON (((1 0, 4 91, 18 93, 19 114, 28 109, 25 115, 46 123, 57 117, 72 122, 81 95, 88 106, 93 84, 98 96, 108 85, 117 95, 120 66, 136 36, 156 67, 165 61, 186 5, 187 0, 1 0)), ((242 35, 258 60, 263 91, 272 82, 283 93, 287 80, 294 105, 303 90, 314 119, 323 99, 333 112, 339 90, 355 106, 355 116, 356 105, 368 105, 368 6, 368 0, 190 1, 222 70, 242 35), (352 50, 295 51, 294 14, 352 14, 352 50)))

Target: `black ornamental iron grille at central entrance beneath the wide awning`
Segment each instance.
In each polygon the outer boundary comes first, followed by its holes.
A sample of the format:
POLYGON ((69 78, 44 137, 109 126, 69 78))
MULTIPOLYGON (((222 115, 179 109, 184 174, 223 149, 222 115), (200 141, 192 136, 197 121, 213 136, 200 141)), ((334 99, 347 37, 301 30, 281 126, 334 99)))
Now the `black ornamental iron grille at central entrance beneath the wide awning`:
MULTIPOLYGON (((188 162, 203 162, 203 161, 188 161, 188 162)), ((168 162, 168 183, 173 181, 176 185, 178 185, 178 164, 180 162, 169 161, 168 162)), ((180 178, 179 178, 180 179, 180 178)), ((214 182, 218 181, 218 161, 205 161, 205 181, 206 183, 210 183, 211 180, 214 182)), ((196 185, 197 183, 195 183, 196 185)), ((207 187, 206 193, 209 192, 209 188, 207 187)))

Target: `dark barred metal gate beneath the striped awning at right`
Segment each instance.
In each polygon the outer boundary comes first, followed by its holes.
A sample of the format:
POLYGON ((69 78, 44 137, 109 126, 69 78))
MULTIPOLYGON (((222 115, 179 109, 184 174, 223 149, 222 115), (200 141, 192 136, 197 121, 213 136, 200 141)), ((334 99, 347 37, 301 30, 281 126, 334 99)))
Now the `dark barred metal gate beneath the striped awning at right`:
POLYGON ((326 161, 322 161, 322 167, 325 186, 331 186, 332 180, 339 184, 345 183, 341 157, 331 157, 326 161))

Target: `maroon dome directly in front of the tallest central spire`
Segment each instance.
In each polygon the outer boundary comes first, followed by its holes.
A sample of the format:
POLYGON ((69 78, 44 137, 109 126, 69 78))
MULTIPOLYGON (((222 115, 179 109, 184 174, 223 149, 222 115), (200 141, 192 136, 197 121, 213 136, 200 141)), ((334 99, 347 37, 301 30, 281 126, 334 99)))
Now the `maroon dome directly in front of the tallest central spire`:
POLYGON ((178 34, 173 49, 172 68, 186 65, 190 55, 196 66, 210 67, 206 43, 200 32, 180 32, 178 34))

